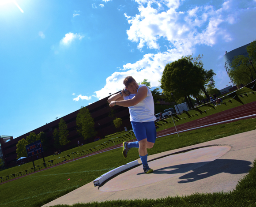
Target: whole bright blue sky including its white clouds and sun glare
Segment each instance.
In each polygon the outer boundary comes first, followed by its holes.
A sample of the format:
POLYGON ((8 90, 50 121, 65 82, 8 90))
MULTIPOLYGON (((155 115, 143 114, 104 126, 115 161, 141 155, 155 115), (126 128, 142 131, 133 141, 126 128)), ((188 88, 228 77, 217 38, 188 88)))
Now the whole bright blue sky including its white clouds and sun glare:
POLYGON ((256 0, 0 0, 0 135, 14 138, 115 93, 152 87, 167 63, 223 55, 256 39, 256 0))

